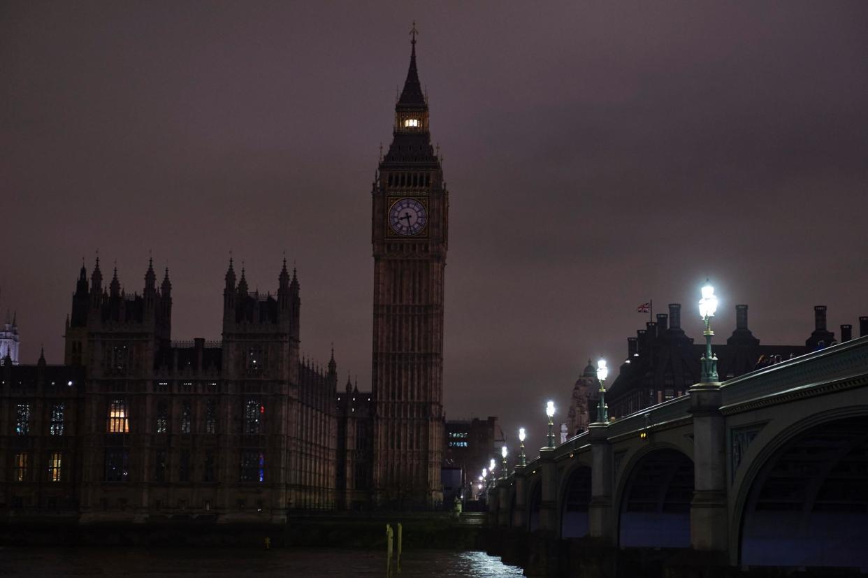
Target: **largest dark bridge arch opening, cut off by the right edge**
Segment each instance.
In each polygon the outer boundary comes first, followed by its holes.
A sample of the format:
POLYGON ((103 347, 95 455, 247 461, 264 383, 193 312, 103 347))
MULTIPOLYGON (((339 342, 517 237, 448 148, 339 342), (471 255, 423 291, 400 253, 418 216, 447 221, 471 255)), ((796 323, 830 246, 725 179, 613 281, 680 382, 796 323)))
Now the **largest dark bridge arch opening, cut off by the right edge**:
POLYGON ((735 512, 742 565, 868 567, 868 406, 780 431, 746 470, 735 512))

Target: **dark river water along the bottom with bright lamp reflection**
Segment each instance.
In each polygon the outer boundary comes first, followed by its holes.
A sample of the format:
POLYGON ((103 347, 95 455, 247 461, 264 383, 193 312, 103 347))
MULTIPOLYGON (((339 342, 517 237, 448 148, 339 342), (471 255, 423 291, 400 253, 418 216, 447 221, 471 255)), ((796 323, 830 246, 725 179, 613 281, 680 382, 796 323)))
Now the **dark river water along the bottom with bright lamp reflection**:
MULTIPOLYGON (((0 576, 383 576, 385 552, 253 548, 0 548, 0 576)), ((393 577, 521 576, 483 552, 404 551, 393 577)))

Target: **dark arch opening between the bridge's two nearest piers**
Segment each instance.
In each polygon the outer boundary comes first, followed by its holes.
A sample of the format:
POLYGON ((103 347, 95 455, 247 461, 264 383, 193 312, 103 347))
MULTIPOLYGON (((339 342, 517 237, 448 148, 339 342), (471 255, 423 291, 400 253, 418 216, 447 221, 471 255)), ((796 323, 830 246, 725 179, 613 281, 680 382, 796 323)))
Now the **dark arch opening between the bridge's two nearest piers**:
POLYGON ((688 548, 694 462, 673 444, 635 452, 624 471, 618 500, 622 548, 688 548))

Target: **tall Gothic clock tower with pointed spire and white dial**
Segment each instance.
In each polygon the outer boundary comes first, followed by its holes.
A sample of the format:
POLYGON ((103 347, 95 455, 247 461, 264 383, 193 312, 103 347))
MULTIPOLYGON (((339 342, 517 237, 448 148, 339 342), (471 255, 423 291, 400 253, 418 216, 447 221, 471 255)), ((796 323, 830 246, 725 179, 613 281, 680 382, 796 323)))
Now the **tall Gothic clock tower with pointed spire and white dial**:
POLYGON ((443 500, 443 300, 449 194, 410 69, 372 190, 374 497, 427 509, 443 500))

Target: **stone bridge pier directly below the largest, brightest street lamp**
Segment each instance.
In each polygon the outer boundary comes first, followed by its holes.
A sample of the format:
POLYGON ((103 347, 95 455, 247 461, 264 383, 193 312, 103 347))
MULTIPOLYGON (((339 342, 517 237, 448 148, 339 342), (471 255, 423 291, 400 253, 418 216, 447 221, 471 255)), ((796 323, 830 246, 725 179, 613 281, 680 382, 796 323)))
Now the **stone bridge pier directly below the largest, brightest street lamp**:
POLYGON ((690 545, 699 552, 726 552, 727 444, 720 413, 720 383, 690 388, 694 417, 694 497, 690 502, 690 545))

